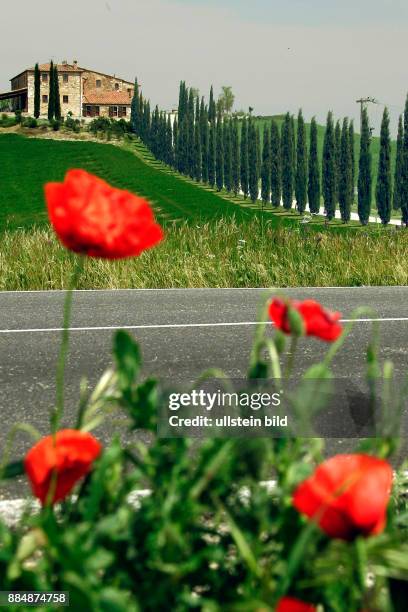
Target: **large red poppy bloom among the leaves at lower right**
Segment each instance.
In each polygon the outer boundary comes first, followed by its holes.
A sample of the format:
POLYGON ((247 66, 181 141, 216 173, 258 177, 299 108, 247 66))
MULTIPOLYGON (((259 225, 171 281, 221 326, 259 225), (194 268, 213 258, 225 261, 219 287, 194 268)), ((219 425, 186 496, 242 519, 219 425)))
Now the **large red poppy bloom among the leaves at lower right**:
POLYGON ((383 531, 391 486, 392 469, 383 459, 336 455, 298 486, 293 503, 330 537, 352 540, 383 531))

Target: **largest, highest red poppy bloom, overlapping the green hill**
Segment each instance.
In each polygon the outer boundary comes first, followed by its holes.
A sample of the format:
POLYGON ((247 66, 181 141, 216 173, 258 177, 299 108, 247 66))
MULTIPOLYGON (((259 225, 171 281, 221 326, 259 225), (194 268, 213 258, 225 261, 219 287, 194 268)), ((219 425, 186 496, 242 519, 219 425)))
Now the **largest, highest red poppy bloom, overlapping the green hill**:
POLYGON ((59 239, 76 253, 121 259, 163 238, 146 200, 85 170, 70 170, 63 183, 47 183, 45 199, 59 239))

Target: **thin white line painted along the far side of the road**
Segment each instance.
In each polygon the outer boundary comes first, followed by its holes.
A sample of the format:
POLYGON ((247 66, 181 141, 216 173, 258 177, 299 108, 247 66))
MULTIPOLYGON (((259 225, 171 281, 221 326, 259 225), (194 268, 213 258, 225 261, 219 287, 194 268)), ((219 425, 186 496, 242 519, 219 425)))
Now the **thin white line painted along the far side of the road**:
MULTIPOLYGON (((384 323, 384 322, 405 322, 408 317, 385 317, 383 319, 340 319, 341 323, 384 323)), ((95 327, 70 327, 71 332, 86 332, 86 331, 114 331, 117 329, 183 329, 190 327, 248 327, 258 325, 258 321, 232 321, 221 323, 163 323, 153 325, 106 325, 95 327)), ((266 321, 266 325, 273 325, 271 321, 266 321)), ((62 327, 43 327, 32 329, 0 329, 0 334, 35 334, 46 332, 62 332, 62 327)))

